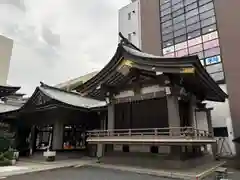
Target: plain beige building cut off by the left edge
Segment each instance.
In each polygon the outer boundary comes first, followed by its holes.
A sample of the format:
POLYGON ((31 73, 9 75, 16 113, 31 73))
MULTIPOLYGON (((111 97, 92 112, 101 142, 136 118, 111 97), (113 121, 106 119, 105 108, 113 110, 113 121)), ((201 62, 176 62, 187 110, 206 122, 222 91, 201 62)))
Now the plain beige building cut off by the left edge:
POLYGON ((7 84, 13 40, 0 35, 0 85, 7 84))

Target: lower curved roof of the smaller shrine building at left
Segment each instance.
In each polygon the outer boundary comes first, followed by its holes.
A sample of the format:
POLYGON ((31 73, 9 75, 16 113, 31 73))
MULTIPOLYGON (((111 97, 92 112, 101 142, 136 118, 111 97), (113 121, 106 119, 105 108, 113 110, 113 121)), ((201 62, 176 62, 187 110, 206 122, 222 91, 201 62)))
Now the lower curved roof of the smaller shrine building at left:
POLYGON ((41 83, 33 95, 20 109, 21 112, 44 110, 55 107, 82 109, 85 111, 105 107, 105 101, 82 97, 75 92, 52 87, 41 83))

